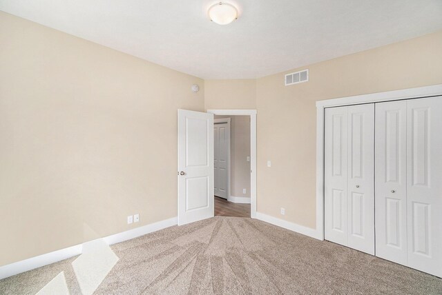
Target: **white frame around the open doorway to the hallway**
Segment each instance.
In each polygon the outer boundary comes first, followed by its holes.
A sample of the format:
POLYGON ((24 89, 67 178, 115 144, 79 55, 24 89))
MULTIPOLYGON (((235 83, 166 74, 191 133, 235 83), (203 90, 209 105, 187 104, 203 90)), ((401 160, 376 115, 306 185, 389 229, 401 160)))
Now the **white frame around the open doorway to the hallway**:
MULTIPOLYGON (((256 110, 207 110, 220 116, 250 116, 250 215, 256 218, 256 110)), ((230 178, 229 178, 230 179, 230 178)), ((230 188, 229 188, 230 194, 230 188)))

